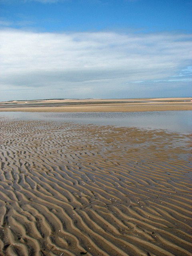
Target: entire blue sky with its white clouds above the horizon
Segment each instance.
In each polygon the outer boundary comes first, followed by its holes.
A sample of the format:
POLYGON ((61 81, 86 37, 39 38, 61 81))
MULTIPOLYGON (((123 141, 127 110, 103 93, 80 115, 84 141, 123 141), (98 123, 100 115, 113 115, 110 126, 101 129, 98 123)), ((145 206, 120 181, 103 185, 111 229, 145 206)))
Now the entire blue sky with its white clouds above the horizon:
POLYGON ((192 0, 0 0, 0 102, 192 96, 192 0))

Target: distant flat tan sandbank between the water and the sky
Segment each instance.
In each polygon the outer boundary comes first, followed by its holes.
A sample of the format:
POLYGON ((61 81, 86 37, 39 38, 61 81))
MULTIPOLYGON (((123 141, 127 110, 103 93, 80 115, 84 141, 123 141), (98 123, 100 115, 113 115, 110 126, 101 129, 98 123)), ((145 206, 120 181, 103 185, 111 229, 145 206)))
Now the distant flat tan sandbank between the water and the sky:
POLYGON ((0 102, 0 111, 21 112, 138 112, 192 110, 191 98, 36 100, 0 102))

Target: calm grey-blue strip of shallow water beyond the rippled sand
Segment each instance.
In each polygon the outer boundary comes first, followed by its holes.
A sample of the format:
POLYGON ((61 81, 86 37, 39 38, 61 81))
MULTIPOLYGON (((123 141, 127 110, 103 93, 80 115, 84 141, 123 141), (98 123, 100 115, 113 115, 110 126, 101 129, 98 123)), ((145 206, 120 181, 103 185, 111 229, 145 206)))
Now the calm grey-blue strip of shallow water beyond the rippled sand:
POLYGON ((24 120, 55 120, 81 124, 115 125, 126 127, 165 129, 172 132, 192 131, 192 111, 152 112, 0 112, 24 120))

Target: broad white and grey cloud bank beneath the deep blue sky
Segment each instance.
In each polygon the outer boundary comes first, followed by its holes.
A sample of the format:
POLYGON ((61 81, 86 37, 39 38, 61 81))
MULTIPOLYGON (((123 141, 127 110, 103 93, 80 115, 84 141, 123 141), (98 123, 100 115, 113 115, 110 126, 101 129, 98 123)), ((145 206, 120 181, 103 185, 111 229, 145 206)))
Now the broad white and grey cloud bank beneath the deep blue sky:
POLYGON ((0 38, 0 86, 15 98, 146 97, 172 83, 187 93, 192 81, 189 34, 1 30, 0 38))

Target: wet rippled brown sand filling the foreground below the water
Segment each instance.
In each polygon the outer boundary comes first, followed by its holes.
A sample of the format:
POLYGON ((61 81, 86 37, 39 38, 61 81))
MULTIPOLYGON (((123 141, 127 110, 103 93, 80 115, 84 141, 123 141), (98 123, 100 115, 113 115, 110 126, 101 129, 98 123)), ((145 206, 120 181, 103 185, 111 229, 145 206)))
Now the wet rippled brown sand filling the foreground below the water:
POLYGON ((191 255, 191 135, 0 125, 2 255, 191 255))

